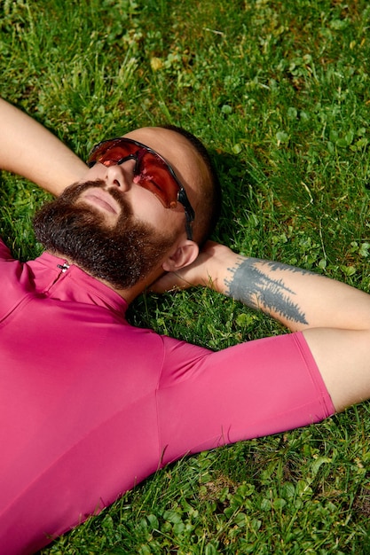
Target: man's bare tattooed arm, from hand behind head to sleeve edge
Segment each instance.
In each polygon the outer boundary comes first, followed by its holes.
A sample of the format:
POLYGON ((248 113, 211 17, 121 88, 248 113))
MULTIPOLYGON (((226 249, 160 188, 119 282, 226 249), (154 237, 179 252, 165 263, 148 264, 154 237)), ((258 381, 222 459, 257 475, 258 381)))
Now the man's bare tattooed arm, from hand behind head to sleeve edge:
POLYGON ((336 410, 370 397, 370 295, 212 242, 191 266, 162 278, 161 288, 164 279, 167 285, 208 286, 302 331, 336 410))

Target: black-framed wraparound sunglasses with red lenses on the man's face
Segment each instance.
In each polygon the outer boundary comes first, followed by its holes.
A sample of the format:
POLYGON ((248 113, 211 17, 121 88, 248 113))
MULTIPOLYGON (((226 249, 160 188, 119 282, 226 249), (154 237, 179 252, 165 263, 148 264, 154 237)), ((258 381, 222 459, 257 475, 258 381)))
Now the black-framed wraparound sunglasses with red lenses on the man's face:
POLYGON ((153 192, 166 208, 176 208, 177 202, 185 210, 185 229, 187 238, 193 239, 193 207, 187 198, 183 185, 178 181, 174 170, 160 154, 146 145, 129 138, 108 139, 95 145, 87 160, 92 168, 96 162, 106 167, 122 164, 126 160, 135 160, 134 183, 153 192))

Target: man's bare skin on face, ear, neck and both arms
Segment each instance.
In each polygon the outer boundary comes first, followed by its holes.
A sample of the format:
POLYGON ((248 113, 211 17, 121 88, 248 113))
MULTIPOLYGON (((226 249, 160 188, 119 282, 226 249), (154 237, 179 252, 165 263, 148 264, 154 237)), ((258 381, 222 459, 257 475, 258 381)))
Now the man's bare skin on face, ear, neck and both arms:
MULTIPOLYGON (((163 223, 168 229, 178 229, 173 248, 163 254, 145 282, 117 293, 131 301, 150 284, 156 292, 189 286, 214 289, 264 311, 292 332, 302 331, 336 410, 370 397, 368 294, 279 262, 240 256, 227 246, 210 241, 198 255, 198 247, 186 239, 184 213, 180 209, 166 210, 154 195, 144 195, 142 188, 134 186, 130 160, 115 173, 96 166, 87 170, 49 131, 4 101, 0 103, 0 137, 5 137, 0 147, 0 166, 28 177, 47 191, 58 195, 72 182, 99 176, 107 189, 116 187, 127 195, 135 215, 150 218, 159 229, 163 223), (43 160, 38 162, 40 152, 43 160)), ((127 137, 160 152, 175 168, 195 211, 201 209, 197 205, 197 187, 204 168, 184 137, 154 128, 137 129, 127 137)), ((107 199, 84 201, 90 202, 93 209, 104 211, 109 222, 115 216, 114 206, 104 208, 103 201, 107 199)))

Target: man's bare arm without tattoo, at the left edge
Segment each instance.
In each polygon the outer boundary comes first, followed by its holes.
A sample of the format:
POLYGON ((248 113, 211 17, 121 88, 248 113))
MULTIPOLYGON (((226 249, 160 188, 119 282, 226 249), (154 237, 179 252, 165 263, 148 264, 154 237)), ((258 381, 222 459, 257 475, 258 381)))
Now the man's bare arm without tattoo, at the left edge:
POLYGON ((75 183, 86 166, 37 121, 0 98, 0 168, 54 195, 75 183))

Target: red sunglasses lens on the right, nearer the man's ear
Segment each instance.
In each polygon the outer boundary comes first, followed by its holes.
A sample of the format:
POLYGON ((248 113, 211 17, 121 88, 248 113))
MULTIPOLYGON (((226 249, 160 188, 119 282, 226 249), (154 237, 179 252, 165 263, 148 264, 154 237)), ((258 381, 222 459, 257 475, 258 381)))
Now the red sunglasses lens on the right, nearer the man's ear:
POLYGON ((144 148, 138 152, 134 183, 153 192, 166 208, 177 206, 179 186, 166 162, 154 152, 144 148))

